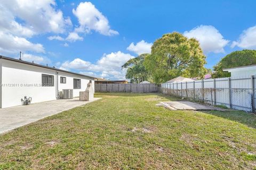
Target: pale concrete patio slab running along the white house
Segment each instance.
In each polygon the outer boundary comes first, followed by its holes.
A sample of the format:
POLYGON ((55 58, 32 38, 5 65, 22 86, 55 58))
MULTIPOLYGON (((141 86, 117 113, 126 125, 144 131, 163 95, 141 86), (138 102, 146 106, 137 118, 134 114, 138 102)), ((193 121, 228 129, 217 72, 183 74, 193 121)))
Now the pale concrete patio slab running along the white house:
MULTIPOLYGON (((94 98, 92 101, 98 99, 100 98, 94 98)), ((74 98, 0 108, 0 134, 92 101, 79 101, 79 98, 74 98)))

